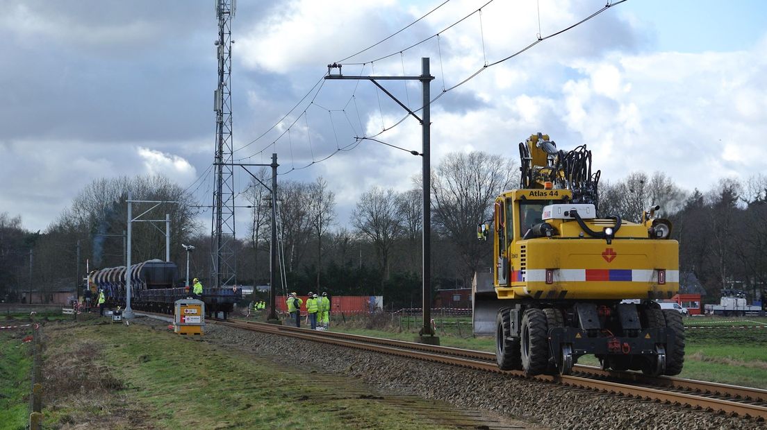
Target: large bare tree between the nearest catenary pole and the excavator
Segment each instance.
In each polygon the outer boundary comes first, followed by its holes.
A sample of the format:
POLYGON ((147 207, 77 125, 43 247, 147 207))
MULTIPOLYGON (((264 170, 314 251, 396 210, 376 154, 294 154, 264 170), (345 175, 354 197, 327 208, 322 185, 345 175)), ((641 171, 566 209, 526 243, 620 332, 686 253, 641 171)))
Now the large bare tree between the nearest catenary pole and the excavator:
POLYGON ((493 202, 516 178, 513 161, 482 151, 446 155, 431 178, 435 226, 456 246, 472 278, 489 253, 476 239, 476 225, 490 217, 493 202))

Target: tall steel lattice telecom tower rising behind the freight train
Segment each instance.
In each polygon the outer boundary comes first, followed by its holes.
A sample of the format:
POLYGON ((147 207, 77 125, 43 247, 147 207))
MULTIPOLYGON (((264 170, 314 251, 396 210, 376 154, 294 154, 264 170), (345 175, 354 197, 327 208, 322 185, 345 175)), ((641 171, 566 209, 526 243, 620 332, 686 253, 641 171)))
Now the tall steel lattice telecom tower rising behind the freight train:
POLYGON ((219 39, 216 56, 219 60, 219 87, 214 96, 216 112, 216 185, 213 189, 213 220, 211 233, 211 282, 215 287, 235 285, 235 192, 232 165, 232 18, 235 0, 216 0, 219 18, 219 39))

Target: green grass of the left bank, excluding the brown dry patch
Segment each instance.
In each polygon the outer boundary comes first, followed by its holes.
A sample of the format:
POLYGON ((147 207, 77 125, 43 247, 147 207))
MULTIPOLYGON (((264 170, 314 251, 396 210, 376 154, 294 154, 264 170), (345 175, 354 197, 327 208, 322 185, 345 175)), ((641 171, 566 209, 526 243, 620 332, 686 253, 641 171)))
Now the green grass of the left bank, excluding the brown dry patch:
POLYGON ((115 421, 110 414, 115 405, 124 404, 156 428, 454 428, 437 417, 423 418, 402 406, 361 396, 356 381, 286 369, 249 353, 216 347, 205 337, 181 337, 143 324, 98 322, 51 336, 54 348, 84 339, 95 342, 94 349, 102 354, 96 360, 103 366, 99 374, 111 373, 122 386, 111 393, 122 400, 87 413, 80 403, 61 403, 46 413, 51 426, 76 423, 87 414, 99 422, 115 421))

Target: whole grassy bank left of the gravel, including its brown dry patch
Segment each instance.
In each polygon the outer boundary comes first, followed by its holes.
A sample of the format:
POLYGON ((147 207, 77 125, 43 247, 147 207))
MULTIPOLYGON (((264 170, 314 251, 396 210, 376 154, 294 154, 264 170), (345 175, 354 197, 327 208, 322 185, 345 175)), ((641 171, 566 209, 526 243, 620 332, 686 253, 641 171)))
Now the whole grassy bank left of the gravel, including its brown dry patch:
POLYGON ((413 413, 357 380, 104 320, 44 327, 46 428, 456 428, 423 415, 431 401, 413 413))

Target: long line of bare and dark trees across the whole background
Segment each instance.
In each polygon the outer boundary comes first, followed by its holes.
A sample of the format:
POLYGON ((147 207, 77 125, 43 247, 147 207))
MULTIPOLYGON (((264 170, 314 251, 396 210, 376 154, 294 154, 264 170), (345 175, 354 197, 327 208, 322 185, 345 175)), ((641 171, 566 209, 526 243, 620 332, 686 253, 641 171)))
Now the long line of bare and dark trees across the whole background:
MULTIPOLYGON (((476 240, 476 224, 492 217, 495 196, 518 187, 518 165, 481 151, 452 153, 433 169, 433 288, 470 287, 476 271, 487 270, 492 241, 476 240)), ((268 183, 268 171, 256 172, 268 183)), ((20 217, 0 213, 0 298, 18 300, 30 285, 54 292, 81 285, 89 269, 124 265, 127 191, 134 200, 173 200, 146 214, 171 217, 171 260, 209 282, 209 213, 188 191, 162 176, 98 179, 84 187, 71 207, 43 233, 31 233, 20 217), (30 257, 31 254, 31 257, 30 257), (77 259, 77 256, 80 259, 77 259), (31 269, 31 270, 30 270, 31 269)), ((272 197, 255 179, 242 193, 249 201, 248 229, 233 243, 237 282, 266 285, 272 226, 272 197)), ((418 307, 421 295, 423 219, 420 180, 397 191, 371 187, 360 196, 349 220, 339 220, 334 192, 324 178, 281 180, 278 184, 278 293, 328 291, 331 295, 384 295, 387 305, 418 307)), ((680 241, 680 271, 694 273, 716 301, 721 288, 759 291, 767 277, 765 217, 767 179, 724 179, 711 190, 685 191, 666 174, 634 172, 614 183, 602 181, 598 211, 637 221, 651 204, 674 225, 680 241)), ((134 215, 149 207, 134 207, 134 215)), ((164 223, 133 225, 133 262, 165 256, 164 223)))

